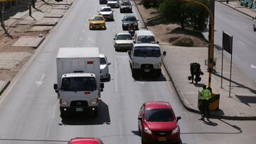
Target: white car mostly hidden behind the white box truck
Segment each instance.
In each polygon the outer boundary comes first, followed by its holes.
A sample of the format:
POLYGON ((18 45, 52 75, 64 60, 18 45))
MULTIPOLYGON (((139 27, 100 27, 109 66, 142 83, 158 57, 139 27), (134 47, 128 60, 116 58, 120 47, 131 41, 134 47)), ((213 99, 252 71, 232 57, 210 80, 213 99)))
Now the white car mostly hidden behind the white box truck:
POLYGON ((110 81, 108 65, 111 65, 111 63, 107 62, 107 57, 100 54, 100 81, 110 81))

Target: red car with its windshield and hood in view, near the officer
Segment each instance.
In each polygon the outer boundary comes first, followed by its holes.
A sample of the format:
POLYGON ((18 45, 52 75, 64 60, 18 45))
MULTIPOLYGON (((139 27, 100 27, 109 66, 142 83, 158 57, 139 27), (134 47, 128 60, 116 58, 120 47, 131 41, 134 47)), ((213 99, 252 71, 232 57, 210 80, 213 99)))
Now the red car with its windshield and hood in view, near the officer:
POLYGON ((151 101, 139 110, 139 133, 143 143, 179 143, 180 128, 169 102, 151 101))

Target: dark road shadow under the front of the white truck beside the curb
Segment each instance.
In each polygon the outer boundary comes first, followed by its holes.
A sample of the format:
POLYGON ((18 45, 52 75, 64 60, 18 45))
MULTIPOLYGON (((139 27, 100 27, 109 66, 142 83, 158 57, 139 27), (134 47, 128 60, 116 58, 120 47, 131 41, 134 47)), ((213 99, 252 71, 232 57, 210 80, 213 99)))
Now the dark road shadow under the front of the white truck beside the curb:
POLYGON ((141 74, 139 74, 139 77, 134 77, 134 81, 139 81, 139 82, 164 82, 164 81, 166 81, 166 77, 164 77, 163 74, 160 74, 160 76, 157 77, 154 74, 141 73, 141 74))

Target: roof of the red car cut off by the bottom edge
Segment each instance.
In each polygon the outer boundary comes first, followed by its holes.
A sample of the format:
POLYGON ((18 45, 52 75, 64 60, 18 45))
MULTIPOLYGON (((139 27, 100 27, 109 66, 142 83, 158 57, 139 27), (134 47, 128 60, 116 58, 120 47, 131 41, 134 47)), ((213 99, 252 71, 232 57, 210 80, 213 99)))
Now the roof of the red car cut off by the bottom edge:
POLYGON ((100 138, 73 138, 68 144, 103 144, 100 138))

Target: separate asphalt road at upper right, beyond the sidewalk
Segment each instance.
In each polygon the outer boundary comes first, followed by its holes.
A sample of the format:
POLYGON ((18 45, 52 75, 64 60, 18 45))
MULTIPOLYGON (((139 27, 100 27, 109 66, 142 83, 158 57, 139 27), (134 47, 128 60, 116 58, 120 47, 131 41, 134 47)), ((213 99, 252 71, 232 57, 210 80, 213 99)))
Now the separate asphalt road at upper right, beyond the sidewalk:
MULTIPOLYGON (((256 32, 252 18, 215 2, 215 45, 223 45, 223 31, 233 35, 233 64, 256 82, 256 32)), ((225 55, 230 57, 228 52, 225 55)))

